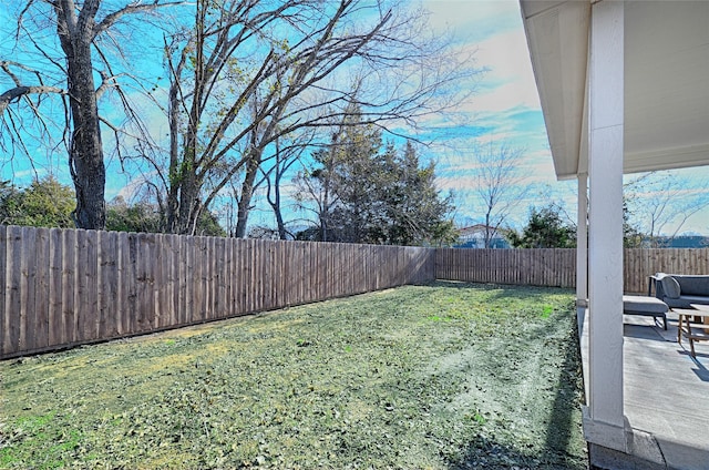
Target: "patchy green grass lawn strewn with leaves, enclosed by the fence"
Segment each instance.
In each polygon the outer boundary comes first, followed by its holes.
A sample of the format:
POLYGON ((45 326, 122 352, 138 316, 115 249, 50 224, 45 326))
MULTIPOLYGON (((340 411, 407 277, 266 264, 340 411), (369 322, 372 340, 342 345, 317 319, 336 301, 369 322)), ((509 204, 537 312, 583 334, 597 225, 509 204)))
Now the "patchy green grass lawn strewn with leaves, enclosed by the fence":
POLYGON ((0 468, 585 469, 569 290, 438 282, 0 362, 0 468))

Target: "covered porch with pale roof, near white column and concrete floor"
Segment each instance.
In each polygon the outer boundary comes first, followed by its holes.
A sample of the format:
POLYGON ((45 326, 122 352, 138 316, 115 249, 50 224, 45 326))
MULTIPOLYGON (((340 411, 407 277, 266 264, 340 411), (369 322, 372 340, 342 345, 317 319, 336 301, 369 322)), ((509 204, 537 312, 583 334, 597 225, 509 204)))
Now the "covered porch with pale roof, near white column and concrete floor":
POLYGON ((520 3, 556 176, 578 181, 592 464, 709 468, 709 356, 623 315, 623 175, 709 165, 709 2, 520 3))

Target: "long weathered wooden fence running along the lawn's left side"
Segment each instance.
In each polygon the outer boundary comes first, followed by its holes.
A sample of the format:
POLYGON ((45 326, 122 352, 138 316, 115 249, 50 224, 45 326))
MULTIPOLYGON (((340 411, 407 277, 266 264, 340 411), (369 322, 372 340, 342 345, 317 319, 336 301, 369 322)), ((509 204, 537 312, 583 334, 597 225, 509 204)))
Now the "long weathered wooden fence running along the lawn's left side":
POLYGON ((429 248, 0 226, 0 358, 433 278, 429 248))

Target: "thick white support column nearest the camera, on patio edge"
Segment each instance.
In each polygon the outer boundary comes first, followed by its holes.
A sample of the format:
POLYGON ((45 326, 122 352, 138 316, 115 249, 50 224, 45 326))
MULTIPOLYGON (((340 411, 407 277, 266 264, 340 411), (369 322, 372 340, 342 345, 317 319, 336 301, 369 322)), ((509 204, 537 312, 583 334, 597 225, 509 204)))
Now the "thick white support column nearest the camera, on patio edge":
POLYGON ((587 439, 625 450, 623 416, 623 1, 592 6, 587 439))

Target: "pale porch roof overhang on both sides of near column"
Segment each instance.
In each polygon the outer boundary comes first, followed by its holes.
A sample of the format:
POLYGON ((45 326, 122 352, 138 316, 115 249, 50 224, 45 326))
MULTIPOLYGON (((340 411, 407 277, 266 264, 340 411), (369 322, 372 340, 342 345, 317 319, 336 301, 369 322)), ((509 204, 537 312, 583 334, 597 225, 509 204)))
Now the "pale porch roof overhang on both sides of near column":
MULTIPOLYGON (((597 0, 521 0, 556 176, 588 172, 597 0)), ((624 172, 709 165, 709 2, 625 2, 624 172)))

